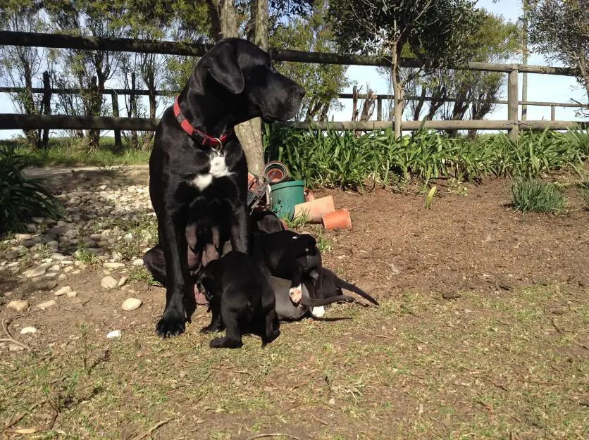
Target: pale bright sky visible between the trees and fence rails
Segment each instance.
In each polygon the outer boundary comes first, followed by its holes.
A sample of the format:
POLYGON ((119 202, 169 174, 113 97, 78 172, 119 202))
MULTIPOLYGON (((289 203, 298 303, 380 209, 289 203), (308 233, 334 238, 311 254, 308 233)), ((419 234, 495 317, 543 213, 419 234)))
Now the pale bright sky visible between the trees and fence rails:
MULTIPOLYGON (((493 3, 492 0, 478 0, 478 6, 485 8, 487 11, 497 15, 503 15, 509 21, 516 21, 521 14, 521 1, 519 0, 499 0, 493 3)), ((510 60, 514 63, 519 63, 521 60, 510 60)), ((543 56, 538 54, 530 54, 528 56, 528 64, 545 65, 546 61, 543 56)), ((380 76, 376 68, 370 66, 351 65, 347 70, 347 77, 353 84, 356 82, 359 86, 363 86, 366 90, 367 86, 373 89, 376 94, 392 94, 390 92, 390 85, 387 84, 385 77, 380 76)), ((522 74, 519 75, 520 99, 521 99, 521 82, 522 74)), ((40 86, 39 86, 40 87, 40 86)), ((344 90, 344 93, 351 93, 352 87, 344 90)), ((502 99, 507 99, 507 92, 504 92, 502 99)), ((585 101, 586 94, 581 86, 576 82, 574 77, 561 77, 556 75, 538 75, 528 74, 528 101, 552 101, 552 102, 571 102, 571 99, 577 101, 585 101)), ((342 99, 342 109, 334 111, 334 120, 350 120, 352 116, 352 100, 342 99)), ((120 108, 124 108, 121 101, 120 108)), ((557 120, 577 120, 575 117, 574 108, 556 108, 557 120)), ((161 114, 163 106, 159 106, 158 113, 161 114)), ((14 107, 8 94, 0 93, 0 113, 14 113, 14 107)), ((376 113, 376 112, 375 112, 376 113)), ((385 111, 383 110, 383 113, 385 111)), ((520 107, 521 113, 521 107, 520 107)), ((384 114, 383 114, 384 116, 384 114)), ((373 116, 376 118, 376 115, 373 116)), ((491 120, 507 119, 507 105, 497 105, 495 111, 485 117, 491 120)), ((550 120, 550 107, 528 106, 528 120, 550 120)), ((21 136, 20 130, 0 130, 0 139, 11 139, 16 136, 21 136)), ((104 133, 109 134, 109 133, 104 133)))

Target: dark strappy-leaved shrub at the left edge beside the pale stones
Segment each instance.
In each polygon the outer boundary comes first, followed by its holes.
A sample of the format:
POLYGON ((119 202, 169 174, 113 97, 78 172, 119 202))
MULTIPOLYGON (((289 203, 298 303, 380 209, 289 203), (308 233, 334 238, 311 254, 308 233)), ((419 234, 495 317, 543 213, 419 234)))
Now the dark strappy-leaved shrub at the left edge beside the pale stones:
POLYGON ((61 217, 61 203, 42 180, 25 177, 23 170, 31 164, 30 158, 11 147, 0 148, 0 232, 25 230, 25 221, 33 215, 61 217))

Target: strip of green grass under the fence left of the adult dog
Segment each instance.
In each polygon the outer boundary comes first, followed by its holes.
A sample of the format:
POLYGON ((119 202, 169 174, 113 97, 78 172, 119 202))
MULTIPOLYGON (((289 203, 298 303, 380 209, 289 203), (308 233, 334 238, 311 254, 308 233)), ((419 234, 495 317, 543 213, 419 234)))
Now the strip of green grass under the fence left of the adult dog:
POLYGON ((149 151, 127 148, 123 141, 123 150, 117 151, 113 137, 103 137, 98 149, 89 151, 83 139, 54 137, 49 139, 46 150, 30 149, 25 139, 0 140, 5 145, 16 149, 17 153, 27 154, 31 165, 46 166, 109 166, 136 165, 149 161, 149 151))

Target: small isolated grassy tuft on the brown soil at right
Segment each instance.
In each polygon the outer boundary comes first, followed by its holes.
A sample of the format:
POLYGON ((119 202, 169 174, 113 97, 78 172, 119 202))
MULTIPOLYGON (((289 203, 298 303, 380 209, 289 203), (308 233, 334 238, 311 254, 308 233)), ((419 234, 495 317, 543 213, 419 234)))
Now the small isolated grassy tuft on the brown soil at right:
POLYGON ((512 184, 512 207, 522 213, 559 213, 564 202, 562 192, 553 183, 515 180, 512 184))

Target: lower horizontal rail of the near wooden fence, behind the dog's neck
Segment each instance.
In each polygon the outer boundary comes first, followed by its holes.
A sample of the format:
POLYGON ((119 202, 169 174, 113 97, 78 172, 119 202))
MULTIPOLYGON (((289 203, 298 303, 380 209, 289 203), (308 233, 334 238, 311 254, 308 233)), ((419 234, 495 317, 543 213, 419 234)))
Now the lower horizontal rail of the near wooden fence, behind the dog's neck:
MULTIPOLYGON (((0 113, 0 127, 6 129, 50 129, 50 130, 144 130, 154 131, 159 119, 154 118, 111 118, 98 116, 67 116, 67 115, 22 115, 17 113, 0 113)), ((395 122, 362 121, 362 122, 280 122, 284 127, 297 130, 386 130, 395 126, 395 122)), ((548 121, 548 120, 427 120, 403 121, 402 128, 416 131, 420 127, 428 130, 510 130, 516 125, 522 130, 567 130, 572 127, 589 127, 588 122, 548 121)))

